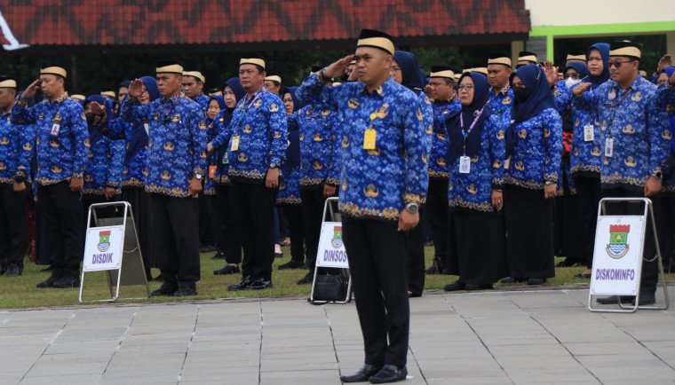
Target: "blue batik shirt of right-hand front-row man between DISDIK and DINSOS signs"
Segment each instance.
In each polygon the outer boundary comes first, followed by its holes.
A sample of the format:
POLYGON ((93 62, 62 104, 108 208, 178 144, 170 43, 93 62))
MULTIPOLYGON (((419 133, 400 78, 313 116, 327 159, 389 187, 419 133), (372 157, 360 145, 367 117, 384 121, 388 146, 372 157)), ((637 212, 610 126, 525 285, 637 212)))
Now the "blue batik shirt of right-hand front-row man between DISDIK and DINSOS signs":
POLYGON ((232 121, 211 145, 215 149, 227 145, 230 150, 230 180, 264 183, 270 163, 281 165, 286 159, 288 129, 282 99, 265 87, 251 98, 242 98, 234 108, 232 121), (239 147, 235 151, 232 150, 233 137, 239 137, 239 147))

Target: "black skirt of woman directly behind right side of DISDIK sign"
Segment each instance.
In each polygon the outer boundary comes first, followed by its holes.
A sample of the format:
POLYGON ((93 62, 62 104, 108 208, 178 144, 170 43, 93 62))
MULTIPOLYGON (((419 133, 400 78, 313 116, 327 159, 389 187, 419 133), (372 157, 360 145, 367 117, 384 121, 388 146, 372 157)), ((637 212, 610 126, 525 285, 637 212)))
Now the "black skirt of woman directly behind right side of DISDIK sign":
POLYGON ((136 224, 136 233, 139 235, 140 254, 143 255, 143 264, 146 269, 157 267, 157 259, 152 247, 152 215, 150 214, 150 200, 152 195, 146 193, 144 187, 124 187, 122 200, 131 204, 133 222, 136 224))

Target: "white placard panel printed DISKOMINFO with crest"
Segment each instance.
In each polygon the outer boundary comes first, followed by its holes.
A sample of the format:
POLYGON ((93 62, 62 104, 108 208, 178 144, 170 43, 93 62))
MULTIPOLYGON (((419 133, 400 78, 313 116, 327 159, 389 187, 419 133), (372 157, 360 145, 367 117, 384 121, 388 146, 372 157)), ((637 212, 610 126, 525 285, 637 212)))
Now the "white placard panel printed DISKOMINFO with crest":
POLYGON ((592 295, 636 295, 642 268, 644 216, 599 216, 592 295))

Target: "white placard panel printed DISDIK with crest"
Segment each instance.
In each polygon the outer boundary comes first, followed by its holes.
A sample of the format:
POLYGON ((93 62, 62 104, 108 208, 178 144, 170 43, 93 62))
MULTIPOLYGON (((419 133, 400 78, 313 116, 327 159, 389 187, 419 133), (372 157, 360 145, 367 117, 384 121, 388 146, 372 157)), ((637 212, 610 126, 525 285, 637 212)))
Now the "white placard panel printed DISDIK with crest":
POLYGON ((124 226, 91 227, 84 242, 83 271, 120 268, 124 226))

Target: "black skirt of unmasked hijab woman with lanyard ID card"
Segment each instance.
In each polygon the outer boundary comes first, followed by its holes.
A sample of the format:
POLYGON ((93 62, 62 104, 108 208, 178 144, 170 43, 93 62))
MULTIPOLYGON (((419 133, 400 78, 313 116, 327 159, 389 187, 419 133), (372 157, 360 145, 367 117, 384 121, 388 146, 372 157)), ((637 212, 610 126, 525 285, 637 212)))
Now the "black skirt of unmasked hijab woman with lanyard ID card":
POLYGON ((456 247, 453 270, 459 280, 476 285, 490 285, 507 275, 502 213, 479 213, 454 210, 452 225, 456 247))

